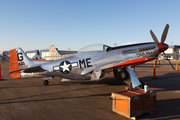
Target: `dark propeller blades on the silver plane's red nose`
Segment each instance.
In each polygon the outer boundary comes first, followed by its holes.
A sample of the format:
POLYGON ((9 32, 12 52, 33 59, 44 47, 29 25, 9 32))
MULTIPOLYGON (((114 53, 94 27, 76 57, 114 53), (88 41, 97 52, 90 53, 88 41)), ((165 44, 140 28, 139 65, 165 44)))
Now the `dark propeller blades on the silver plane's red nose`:
MULTIPOLYGON (((163 45, 164 44, 164 41, 166 40, 166 36, 167 36, 167 33, 168 33, 168 30, 169 30, 169 24, 166 24, 165 28, 164 28, 164 31, 162 33, 162 36, 161 36, 161 44, 163 45)), ((156 43, 159 43, 156 35, 153 33, 152 30, 150 30, 150 34, 154 40, 154 42, 156 43)), ((170 60, 168 59, 167 55, 164 53, 163 51, 163 54, 164 56, 166 57, 166 60, 168 60, 169 64, 172 66, 172 68, 175 70, 174 66, 172 65, 172 63, 170 62, 170 60)), ((157 63, 157 60, 156 60, 156 63, 157 63)))

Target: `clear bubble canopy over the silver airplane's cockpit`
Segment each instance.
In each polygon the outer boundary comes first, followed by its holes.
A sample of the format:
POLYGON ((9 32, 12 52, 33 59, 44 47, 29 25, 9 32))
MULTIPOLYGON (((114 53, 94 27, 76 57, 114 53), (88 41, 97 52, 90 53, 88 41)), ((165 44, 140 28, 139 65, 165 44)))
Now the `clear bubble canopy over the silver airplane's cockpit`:
POLYGON ((78 51, 78 53, 90 52, 90 51, 106 51, 110 46, 104 44, 93 44, 86 47, 83 47, 78 51))

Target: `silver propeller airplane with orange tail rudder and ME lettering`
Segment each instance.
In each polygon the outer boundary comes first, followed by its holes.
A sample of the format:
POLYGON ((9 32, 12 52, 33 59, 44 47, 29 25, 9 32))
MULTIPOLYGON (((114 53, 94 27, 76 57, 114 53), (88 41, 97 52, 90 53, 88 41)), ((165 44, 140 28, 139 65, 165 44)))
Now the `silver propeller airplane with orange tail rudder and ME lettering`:
MULTIPOLYGON (((169 25, 162 34, 161 42, 150 31, 155 42, 110 47, 103 44, 82 48, 74 56, 51 62, 32 61, 21 48, 9 51, 9 72, 13 78, 54 77, 59 76, 71 80, 98 80, 106 71, 113 71, 114 77, 124 81, 130 75, 132 87, 141 83, 131 66, 158 58, 158 55, 168 49, 164 43, 169 25)), ((45 80, 44 85, 49 81, 45 80)))

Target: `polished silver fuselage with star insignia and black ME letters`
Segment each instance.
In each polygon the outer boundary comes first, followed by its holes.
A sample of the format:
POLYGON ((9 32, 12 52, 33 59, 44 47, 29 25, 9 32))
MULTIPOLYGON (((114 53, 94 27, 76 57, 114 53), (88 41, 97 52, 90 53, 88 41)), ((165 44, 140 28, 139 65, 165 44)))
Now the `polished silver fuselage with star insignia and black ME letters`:
MULTIPOLYGON (((94 70, 111 69, 114 65, 143 57, 158 57, 157 43, 113 47, 110 50, 77 53, 74 56, 43 63, 43 72, 21 73, 22 77, 54 77, 90 80, 94 70)), ((137 63, 138 64, 138 63, 137 63)), ((126 67, 126 66, 118 66, 126 67)))

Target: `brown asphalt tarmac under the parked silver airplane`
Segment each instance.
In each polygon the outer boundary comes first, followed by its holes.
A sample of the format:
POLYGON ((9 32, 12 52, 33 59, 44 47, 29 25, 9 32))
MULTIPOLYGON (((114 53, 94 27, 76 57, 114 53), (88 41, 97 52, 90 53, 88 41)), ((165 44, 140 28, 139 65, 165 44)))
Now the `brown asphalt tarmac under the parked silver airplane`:
MULTIPOLYGON (((98 81, 61 82, 56 77, 44 86, 41 78, 11 78, 8 63, 1 63, 1 71, 0 120, 129 120, 112 111, 111 93, 127 86, 113 74, 98 81)), ((137 119, 179 120, 180 71, 173 71, 168 62, 157 65, 157 79, 152 79, 152 62, 137 66, 135 71, 157 94, 154 113, 137 119)))

